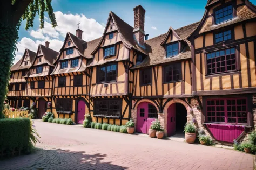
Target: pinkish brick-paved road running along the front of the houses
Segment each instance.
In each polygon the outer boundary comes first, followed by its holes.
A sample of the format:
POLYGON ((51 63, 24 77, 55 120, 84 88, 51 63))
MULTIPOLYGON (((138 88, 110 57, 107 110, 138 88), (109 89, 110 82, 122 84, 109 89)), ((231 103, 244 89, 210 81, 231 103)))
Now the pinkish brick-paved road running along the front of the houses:
POLYGON ((172 140, 35 121, 36 153, 0 169, 253 169, 250 154, 172 140))

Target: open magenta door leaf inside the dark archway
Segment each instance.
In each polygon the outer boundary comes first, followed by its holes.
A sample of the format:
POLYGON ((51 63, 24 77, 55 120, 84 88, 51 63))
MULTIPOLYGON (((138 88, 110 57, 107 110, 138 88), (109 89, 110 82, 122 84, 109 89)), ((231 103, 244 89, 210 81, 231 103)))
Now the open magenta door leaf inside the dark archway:
POLYGON ((167 109, 167 136, 172 136, 176 131, 176 104, 173 103, 167 109))

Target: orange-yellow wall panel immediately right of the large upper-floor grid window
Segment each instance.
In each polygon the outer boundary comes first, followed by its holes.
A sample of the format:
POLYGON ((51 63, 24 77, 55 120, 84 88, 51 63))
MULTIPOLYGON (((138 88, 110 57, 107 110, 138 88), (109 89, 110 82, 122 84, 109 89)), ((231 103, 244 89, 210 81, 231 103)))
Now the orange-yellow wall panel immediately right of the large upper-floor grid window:
POLYGON ((242 74, 242 87, 248 87, 248 72, 246 61, 245 44, 240 44, 240 60, 241 60, 241 74, 242 74))

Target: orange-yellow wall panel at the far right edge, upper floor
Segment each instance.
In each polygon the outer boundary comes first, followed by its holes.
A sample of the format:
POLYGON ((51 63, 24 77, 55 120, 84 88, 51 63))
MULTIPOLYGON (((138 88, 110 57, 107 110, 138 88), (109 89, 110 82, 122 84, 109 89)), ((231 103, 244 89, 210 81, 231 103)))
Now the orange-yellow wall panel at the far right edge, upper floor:
MULTIPOLYGON (((254 27, 254 30, 255 30, 255 27, 254 27)), ((248 42, 248 48, 249 48, 249 56, 250 56, 251 84, 252 84, 252 87, 255 87, 256 86, 256 76, 255 76, 254 43, 248 42)))

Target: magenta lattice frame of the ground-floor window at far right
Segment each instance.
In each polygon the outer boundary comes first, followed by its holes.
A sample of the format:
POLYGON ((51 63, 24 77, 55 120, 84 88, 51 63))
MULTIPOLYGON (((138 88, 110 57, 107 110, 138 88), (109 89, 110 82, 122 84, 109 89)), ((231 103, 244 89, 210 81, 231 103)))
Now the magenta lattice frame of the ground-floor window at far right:
MULTIPOLYGON (((218 124, 232 124, 232 125, 248 125, 249 123, 249 113, 248 113, 248 100, 246 97, 240 97, 240 98, 208 98, 206 100, 206 122, 207 123, 218 123, 218 124), (236 123, 228 123, 227 122, 227 119, 228 119, 228 116, 227 116, 227 100, 236 100, 236 103, 235 103, 235 107, 237 108, 238 104, 237 104, 237 100, 241 100, 241 99, 244 99, 246 100, 246 119, 247 119, 247 123, 238 123, 238 116, 236 116, 236 123), (225 117, 225 122, 210 122, 208 121, 208 101, 217 101, 217 100, 224 100, 224 117, 225 117)), ((223 116, 216 116, 217 114, 217 109, 216 109, 216 103, 215 103, 215 120, 217 119, 217 117, 223 117, 223 116)), ((236 112, 238 112, 238 110, 236 109, 236 112)), ((211 116, 212 117, 212 116, 211 116)), ((230 117, 232 118, 232 117, 230 117)), ((241 118, 245 118, 245 117, 241 117, 241 118)))

